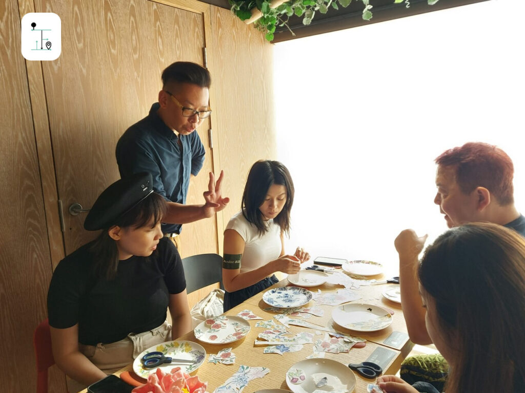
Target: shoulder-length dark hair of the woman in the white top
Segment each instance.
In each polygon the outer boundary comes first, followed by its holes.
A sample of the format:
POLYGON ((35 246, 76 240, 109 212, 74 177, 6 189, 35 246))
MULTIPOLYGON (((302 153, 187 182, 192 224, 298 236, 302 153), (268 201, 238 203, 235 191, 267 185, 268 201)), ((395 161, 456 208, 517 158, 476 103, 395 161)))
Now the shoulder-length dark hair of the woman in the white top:
POLYGON ((282 233, 290 233, 290 211, 293 204, 293 181, 288 169, 279 161, 259 160, 251 166, 248 179, 244 187, 241 210, 243 215, 257 227, 259 235, 264 235, 268 227, 263 220, 259 206, 264 203, 268 189, 272 184, 284 185, 286 188, 286 203, 274 222, 281 228, 282 233))

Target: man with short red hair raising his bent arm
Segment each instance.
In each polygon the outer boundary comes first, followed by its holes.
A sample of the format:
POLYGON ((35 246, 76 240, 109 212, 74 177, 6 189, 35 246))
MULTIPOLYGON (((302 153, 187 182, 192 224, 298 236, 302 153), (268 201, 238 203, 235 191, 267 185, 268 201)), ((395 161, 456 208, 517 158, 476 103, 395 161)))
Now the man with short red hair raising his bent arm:
MULTIPOLYGON (((525 217, 514 206, 514 167, 505 151, 486 143, 470 142, 446 150, 435 162, 437 193, 434 203, 439 205, 449 228, 470 222, 490 222, 525 236, 525 217)), ((408 334, 413 343, 422 345, 432 343, 425 326, 425 309, 418 293, 416 274, 418 255, 425 240, 426 236, 418 237, 412 230, 401 232, 395 239, 408 334)), ((425 380, 435 380, 438 389, 442 388, 446 378, 446 368, 443 370, 440 364, 442 357, 433 357, 433 365, 422 366, 421 363, 421 359, 408 358, 402 365, 402 377, 409 379, 425 374, 428 377, 425 380)))

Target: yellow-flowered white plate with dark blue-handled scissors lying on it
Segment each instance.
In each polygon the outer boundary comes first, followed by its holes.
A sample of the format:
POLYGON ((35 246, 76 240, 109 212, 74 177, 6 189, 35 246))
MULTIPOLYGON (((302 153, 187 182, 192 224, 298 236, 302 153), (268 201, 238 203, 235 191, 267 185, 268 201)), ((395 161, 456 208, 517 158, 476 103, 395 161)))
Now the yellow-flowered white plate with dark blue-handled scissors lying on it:
POLYGON ((154 345, 144 352, 142 352, 135 361, 133 362, 133 371, 135 374, 142 378, 148 378, 150 373, 153 373, 156 369, 160 368, 164 373, 169 373, 170 370, 174 367, 181 367, 182 371, 185 373, 193 373, 199 366, 204 363, 206 358, 206 350, 199 344, 192 341, 167 341, 162 344, 154 345), (150 352, 159 351, 164 354, 164 356, 174 357, 177 359, 193 359, 195 363, 193 364, 183 364, 183 363, 164 363, 160 367, 155 368, 143 368, 142 367, 142 356, 149 354, 150 352))

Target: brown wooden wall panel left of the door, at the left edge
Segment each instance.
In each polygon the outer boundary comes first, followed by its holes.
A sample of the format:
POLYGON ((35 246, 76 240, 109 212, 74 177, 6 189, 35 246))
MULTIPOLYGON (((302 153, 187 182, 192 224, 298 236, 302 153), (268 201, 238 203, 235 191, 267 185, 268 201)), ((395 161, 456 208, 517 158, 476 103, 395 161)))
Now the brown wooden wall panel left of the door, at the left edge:
POLYGON ((2 390, 32 392, 33 331, 46 318, 51 261, 17 0, 0 2, 0 92, 2 390))

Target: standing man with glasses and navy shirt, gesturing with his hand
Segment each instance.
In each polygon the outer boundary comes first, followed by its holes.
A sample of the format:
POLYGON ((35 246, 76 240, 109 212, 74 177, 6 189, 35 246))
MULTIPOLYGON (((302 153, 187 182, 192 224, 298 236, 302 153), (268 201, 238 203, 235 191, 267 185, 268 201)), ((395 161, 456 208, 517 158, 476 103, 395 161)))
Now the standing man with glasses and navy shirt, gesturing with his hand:
POLYGON ((167 201, 162 225, 164 236, 172 238, 180 251, 177 236, 181 224, 211 217, 229 202, 222 198, 220 183, 209 173, 205 203, 186 205, 190 178, 197 176, 204 163, 204 146, 195 129, 212 111, 209 107, 211 76, 196 63, 177 61, 162 72, 159 102, 150 113, 129 127, 117 143, 116 156, 122 178, 147 171, 153 189, 167 201))

